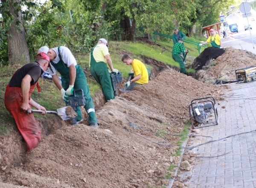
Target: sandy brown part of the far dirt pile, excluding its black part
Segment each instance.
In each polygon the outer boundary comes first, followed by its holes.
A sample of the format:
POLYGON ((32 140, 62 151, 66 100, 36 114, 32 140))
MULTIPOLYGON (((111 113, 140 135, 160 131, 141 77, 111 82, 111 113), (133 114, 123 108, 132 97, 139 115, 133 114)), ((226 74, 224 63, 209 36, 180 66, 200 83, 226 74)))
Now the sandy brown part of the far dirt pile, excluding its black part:
POLYGON ((216 60, 209 60, 209 65, 198 70, 196 77, 205 83, 215 83, 215 80, 236 80, 236 69, 256 65, 256 55, 245 50, 225 48, 224 54, 216 60))

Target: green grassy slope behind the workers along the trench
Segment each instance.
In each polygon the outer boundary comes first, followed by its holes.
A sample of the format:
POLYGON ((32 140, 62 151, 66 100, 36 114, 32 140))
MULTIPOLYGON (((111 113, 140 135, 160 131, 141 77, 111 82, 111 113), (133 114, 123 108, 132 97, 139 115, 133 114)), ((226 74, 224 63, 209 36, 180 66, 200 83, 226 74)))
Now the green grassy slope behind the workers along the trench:
MULTIPOLYGON (((195 40, 195 39, 191 39, 195 40)), ((202 39, 205 40, 205 39, 202 39)), ((198 40, 197 40, 198 41, 198 40)), ((127 78, 128 73, 131 70, 131 66, 126 66, 121 61, 121 57, 125 53, 132 54, 133 58, 141 59, 141 56, 150 57, 157 61, 161 61, 170 66, 178 67, 178 63, 172 59, 172 46, 173 43, 171 40, 165 41, 157 41, 160 45, 149 45, 148 43, 143 43, 141 41, 137 42, 111 42, 109 51, 111 54, 111 59, 113 61, 114 68, 117 68, 120 72, 122 72, 122 77, 127 78), (162 54, 161 51, 166 48, 162 54)), ((185 47, 189 49, 189 56, 197 57, 198 51, 195 45, 185 43, 185 47)), ((89 70, 89 53, 88 54, 75 54, 77 61, 79 62, 82 68, 87 68, 89 70)), ((187 61, 192 61, 187 59, 187 61)), ((12 74, 20 68, 21 65, 3 67, 0 69, 0 134, 9 134, 9 132, 15 127, 15 122, 13 118, 10 116, 9 112, 6 110, 4 106, 4 92, 6 85, 11 79, 12 74)), ((148 66, 150 67, 150 66, 148 66)), ((193 71, 189 69, 189 71, 193 71)), ((90 93, 93 96, 96 91, 99 91, 100 85, 96 83, 95 80, 90 79, 87 76, 87 82, 89 84, 90 93)), ((39 84, 41 86, 42 92, 38 93, 35 89, 32 94, 32 98, 43 105, 47 110, 56 111, 57 108, 61 108, 64 106, 64 102, 61 99, 61 94, 58 89, 53 84, 52 80, 40 79, 39 84), (43 83, 42 83, 43 82, 43 83)), ((41 116, 39 114, 35 114, 35 117, 38 119, 47 118, 47 115, 41 116)))

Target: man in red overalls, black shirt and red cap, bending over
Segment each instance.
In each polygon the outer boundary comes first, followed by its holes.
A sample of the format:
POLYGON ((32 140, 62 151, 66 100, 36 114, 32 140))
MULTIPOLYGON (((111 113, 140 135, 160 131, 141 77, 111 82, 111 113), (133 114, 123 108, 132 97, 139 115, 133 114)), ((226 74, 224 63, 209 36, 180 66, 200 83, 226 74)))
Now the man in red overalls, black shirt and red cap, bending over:
POLYGON ((17 128, 26 142, 27 151, 37 147, 41 141, 38 122, 35 121, 33 113, 28 114, 26 111, 33 106, 38 110, 42 110, 43 115, 46 114, 46 109, 32 100, 31 94, 35 86, 40 92, 38 79, 47 70, 49 61, 47 54, 44 52, 39 53, 36 56, 35 63, 28 63, 17 70, 6 86, 4 103, 6 109, 15 119, 17 128))

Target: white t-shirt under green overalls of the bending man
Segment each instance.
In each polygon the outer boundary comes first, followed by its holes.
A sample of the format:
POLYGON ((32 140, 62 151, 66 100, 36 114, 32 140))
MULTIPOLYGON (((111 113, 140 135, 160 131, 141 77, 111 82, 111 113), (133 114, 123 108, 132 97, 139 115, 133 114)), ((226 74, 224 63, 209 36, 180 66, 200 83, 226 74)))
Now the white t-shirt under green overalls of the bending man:
MULTIPOLYGON (((56 64, 60 61, 60 58, 58 56, 59 55, 58 47, 52 48, 52 50, 55 51, 56 53, 56 57, 55 59, 52 60, 52 62, 56 64)), ((67 48, 66 46, 60 46, 60 54, 63 62, 67 64, 67 67, 70 67, 71 65, 74 65, 74 66, 77 65, 75 57, 71 53, 70 49, 67 48)), ((51 68, 48 68, 48 71, 51 74, 51 76, 57 74, 56 69, 52 65, 51 65, 51 68)))

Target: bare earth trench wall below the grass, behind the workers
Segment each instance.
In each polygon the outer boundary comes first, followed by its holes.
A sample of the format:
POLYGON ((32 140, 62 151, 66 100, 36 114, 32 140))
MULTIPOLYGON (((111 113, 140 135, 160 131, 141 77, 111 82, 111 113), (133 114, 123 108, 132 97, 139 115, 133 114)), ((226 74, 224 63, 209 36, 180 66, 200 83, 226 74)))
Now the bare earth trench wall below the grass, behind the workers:
MULTIPOLYGON (((166 64, 152 60, 148 57, 143 57, 143 60, 145 60, 146 64, 153 66, 151 70, 151 79, 154 79, 154 77, 156 77, 157 74, 159 74, 162 70, 168 68, 166 64)), ((90 74, 89 70, 84 69, 84 71, 87 77, 91 77, 93 79, 93 76, 90 74)), ((122 83, 119 83, 118 88, 123 88, 124 83, 125 80, 123 80, 122 83)), ((119 91, 118 94, 120 94, 119 91)), ((95 96, 93 97, 93 102, 96 111, 105 105, 106 102, 102 91, 96 92, 95 96)), ((81 109, 84 116, 86 116, 86 111, 84 108, 81 109)), ((49 116, 49 118, 38 121, 41 128, 42 137, 47 137, 49 134, 55 134, 58 129, 69 125, 68 121, 61 121, 59 118, 56 118, 55 115, 47 114, 47 116, 49 116)), ((0 135, 0 151, 0 164, 2 168, 11 166, 17 167, 26 162, 27 156, 25 142, 18 132, 17 127, 15 127, 12 133, 6 137, 0 135)))

